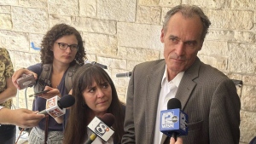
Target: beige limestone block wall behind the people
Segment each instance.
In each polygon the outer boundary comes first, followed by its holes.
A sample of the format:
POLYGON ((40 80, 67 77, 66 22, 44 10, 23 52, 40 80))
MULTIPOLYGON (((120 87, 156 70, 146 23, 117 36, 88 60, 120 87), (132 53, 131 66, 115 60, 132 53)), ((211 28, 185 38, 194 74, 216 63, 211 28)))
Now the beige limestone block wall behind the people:
MULTIPOLYGON (((200 6, 212 21, 199 53, 202 61, 230 78, 243 81, 241 144, 256 135, 256 1, 255 0, 0 0, 0 48, 9 50, 15 69, 40 61, 44 33, 57 23, 81 32, 90 61, 108 66, 125 101, 130 72, 138 63, 163 58, 160 30, 168 9, 180 3, 200 6)), ((15 107, 32 107, 32 88, 20 90, 15 107), (27 98, 27 100, 25 99, 27 98), (18 102, 17 102, 18 101, 18 102)))

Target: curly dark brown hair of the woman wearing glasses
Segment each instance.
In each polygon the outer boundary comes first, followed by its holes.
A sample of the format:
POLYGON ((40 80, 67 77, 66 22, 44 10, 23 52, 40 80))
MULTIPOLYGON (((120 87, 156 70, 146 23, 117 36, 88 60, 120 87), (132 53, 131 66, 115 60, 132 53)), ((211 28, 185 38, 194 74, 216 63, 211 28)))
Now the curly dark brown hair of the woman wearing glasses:
POLYGON ((75 35, 75 37, 78 40, 78 52, 75 56, 74 60, 71 62, 71 66, 73 66, 75 63, 79 63, 80 65, 84 64, 84 60, 86 60, 86 54, 84 51, 84 42, 82 40, 82 37, 80 33, 72 26, 68 26, 67 24, 57 24, 53 26, 45 35, 43 38, 43 41, 41 43, 41 62, 43 64, 49 64, 53 62, 54 55, 53 52, 50 50, 52 49, 55 41, 63 36, 69 36, 69 35, 75 35))

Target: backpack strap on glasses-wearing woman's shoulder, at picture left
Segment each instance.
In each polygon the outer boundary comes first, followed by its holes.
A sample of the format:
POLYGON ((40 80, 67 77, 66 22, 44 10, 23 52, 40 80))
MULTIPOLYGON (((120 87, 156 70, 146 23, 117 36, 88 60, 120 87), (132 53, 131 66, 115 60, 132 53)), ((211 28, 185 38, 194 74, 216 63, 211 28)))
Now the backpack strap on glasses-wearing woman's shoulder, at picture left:
POLYGON ((43 69, 38 78, 38 82, 34 86, 34 91, 36 93, 43 91, 46 85, 51 85, 51 82, 49 79, 51 71, 52 71, 52 64, 43 64, 43 69))

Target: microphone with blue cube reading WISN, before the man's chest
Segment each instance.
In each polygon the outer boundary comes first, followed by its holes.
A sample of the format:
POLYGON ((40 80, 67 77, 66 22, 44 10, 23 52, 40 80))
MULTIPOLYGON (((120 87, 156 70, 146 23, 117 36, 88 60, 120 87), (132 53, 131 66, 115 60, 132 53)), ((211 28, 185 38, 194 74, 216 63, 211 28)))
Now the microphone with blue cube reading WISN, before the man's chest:
POLYGON ((160 131, 177 141, 177 135, 188 135, 188 115, 181 110, 181 103, 172 98, 167 110, 160 112, 160 131))

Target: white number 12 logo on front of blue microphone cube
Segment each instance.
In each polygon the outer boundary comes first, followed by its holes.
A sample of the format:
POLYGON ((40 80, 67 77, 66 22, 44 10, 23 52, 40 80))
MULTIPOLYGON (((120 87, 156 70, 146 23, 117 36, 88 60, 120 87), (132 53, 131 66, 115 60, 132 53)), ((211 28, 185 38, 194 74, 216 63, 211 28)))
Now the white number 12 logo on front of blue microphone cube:
POLYGON ((173 112, 164 112, 162 113, 161 117, 162 121, 162 128, 167 129, 167 128, 174 128, 174 123, 178 121, 178 118, 176 115, 174 115, 173 112))

